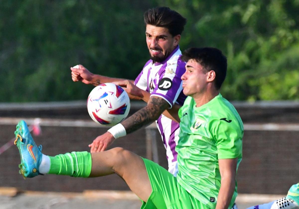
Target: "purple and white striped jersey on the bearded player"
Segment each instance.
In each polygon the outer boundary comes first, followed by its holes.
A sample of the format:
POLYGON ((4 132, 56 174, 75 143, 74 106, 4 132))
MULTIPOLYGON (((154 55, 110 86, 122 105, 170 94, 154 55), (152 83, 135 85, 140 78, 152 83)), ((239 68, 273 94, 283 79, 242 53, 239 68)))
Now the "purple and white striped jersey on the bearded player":
MULTIPOLYGON (((185 72, 185 64, 181 60, 181 50, 177 46, 163 62, 153 63, 152 60, 149 60, 135 79, 134 84, 151 93, 151 96, 165 99, 171 107, 174 103, 183 105, 186 96, 183 93, 181 76, 185 72)), ((179 123, 162 114, 156 120, 156 125, 166 149, 168 171, 176 176, 177 153, 175 148, 179 140, 179 123)))

